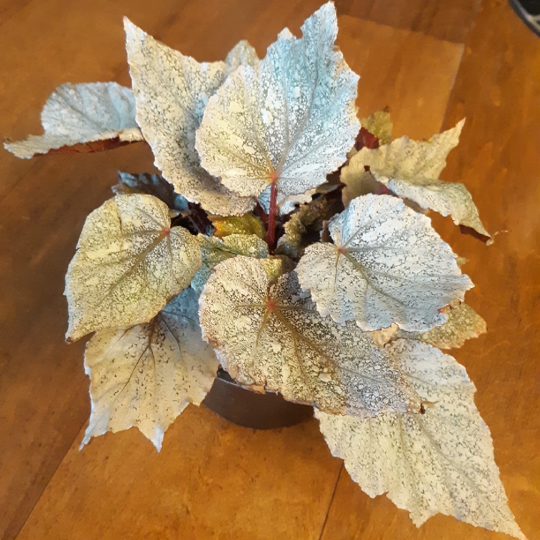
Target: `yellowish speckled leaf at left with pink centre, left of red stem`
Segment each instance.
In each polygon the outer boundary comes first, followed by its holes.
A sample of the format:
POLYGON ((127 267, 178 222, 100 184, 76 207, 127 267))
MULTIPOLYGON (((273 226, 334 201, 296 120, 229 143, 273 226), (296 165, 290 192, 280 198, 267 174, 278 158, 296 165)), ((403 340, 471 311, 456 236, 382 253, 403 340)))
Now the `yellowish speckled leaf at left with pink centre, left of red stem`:
POLYGON ((190 284, 199 243, 170 227, 168 207, 152 195, 117 195, 86 218, 66 274, 66 338, 150 321, 190 284))

